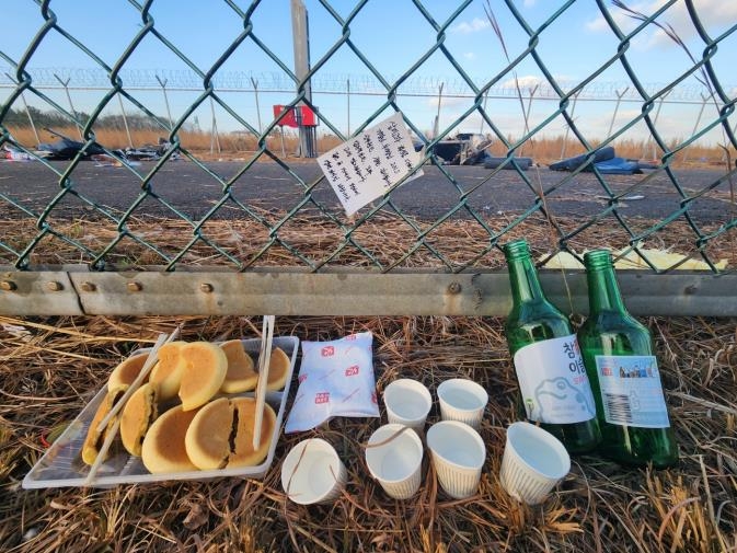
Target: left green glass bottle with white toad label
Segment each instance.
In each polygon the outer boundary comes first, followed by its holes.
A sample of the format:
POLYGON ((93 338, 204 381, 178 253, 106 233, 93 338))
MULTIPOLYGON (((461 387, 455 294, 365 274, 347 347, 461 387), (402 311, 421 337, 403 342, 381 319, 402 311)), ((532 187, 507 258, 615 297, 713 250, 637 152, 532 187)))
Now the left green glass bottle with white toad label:
POLYGON ((568 318, 545 298, 525 240, 504 246, 514 301, 505 323, 527 418, 571 453, 601 439, 596 405, 568 318))

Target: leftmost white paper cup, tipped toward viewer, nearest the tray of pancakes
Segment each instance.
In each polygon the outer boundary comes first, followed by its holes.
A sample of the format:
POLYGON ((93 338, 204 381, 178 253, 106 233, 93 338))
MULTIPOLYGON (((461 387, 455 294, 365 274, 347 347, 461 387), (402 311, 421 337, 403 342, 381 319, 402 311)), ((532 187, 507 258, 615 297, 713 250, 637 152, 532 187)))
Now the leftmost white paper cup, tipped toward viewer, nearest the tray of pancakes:
POLYGON ((281 463, 281 487, 289 499, 302 505, 333 502, 347 479, 333 446, 320 438, 300 441, 281 463))

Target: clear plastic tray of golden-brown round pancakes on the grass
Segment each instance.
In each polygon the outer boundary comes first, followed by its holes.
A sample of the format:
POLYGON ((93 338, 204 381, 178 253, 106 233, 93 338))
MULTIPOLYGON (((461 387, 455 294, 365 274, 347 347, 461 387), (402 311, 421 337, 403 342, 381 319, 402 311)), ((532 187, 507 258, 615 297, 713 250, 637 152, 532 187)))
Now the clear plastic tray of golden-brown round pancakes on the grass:
POLYGON ((23 479, 23 487, 263 479, 281 431, 299 338, 274 337, 261 442, 254 447, 261 342, 170 342, 158 349, 143 382, 126 394, 151 349, 135 352, 50 445, 23 479), (112 410, 115 416, 101 429, 112 410), (105 451, 102 445, 111 439, 105 451), (96 472, 90 475, 93 465, 96 472))

